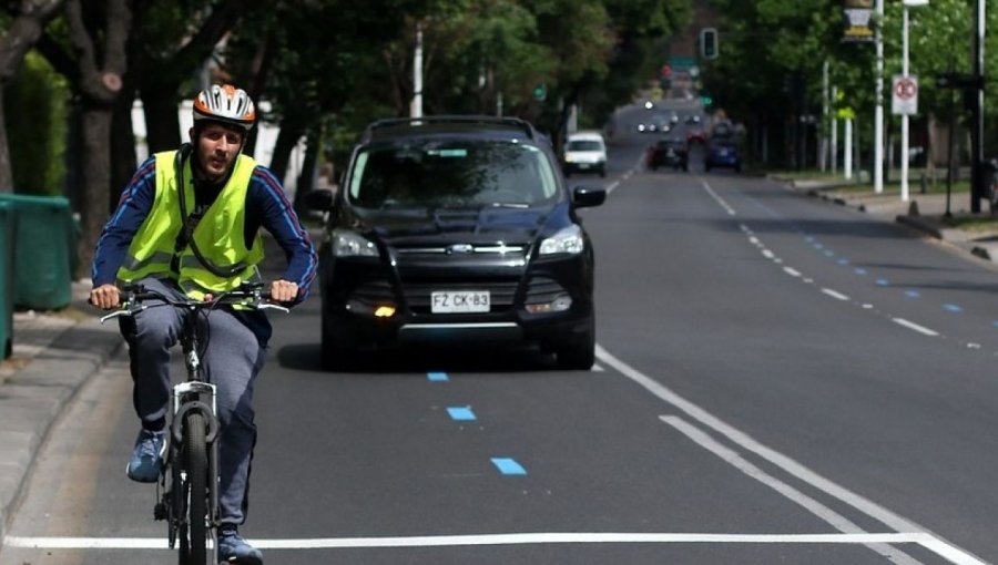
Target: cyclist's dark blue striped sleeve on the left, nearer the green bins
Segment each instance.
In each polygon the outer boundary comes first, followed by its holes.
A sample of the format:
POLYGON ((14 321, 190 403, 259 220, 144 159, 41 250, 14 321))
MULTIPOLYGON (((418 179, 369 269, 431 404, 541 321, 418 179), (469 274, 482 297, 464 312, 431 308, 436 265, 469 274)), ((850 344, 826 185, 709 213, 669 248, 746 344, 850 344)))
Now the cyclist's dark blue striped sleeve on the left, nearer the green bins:
POLYGON ((91 266, 93 286, 113 284, 132 237, 142 227, 156 197, 156 160, 147 158, 132 175, 98 239, 91 266))

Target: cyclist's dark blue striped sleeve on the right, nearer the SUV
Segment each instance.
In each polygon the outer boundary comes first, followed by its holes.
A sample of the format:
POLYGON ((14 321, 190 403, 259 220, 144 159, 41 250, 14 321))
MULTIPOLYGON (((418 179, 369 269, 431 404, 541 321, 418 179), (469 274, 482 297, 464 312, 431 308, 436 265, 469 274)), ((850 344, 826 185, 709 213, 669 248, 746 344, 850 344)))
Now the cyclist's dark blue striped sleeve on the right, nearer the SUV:
POLYGON ((257 165, 249 182, 247 198, 252 201, 249 213, 259 212, 261 225, 284 250, 287 259, 284 279, 298 285, 298 299, 295 302, 298 304, 308 296, 318 264, 308 232, 302 227, 298 215, 284 195, 284 187, 268 168, 257 165))

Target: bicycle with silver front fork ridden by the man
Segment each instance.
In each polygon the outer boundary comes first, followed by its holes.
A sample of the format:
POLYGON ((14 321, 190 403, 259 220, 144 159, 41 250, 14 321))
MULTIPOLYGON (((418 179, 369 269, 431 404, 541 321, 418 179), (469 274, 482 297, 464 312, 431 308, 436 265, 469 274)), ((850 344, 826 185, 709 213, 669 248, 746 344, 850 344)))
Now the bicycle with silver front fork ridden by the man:
POLYGON ((142 285, 129 285, 122 288, 121 309, 101 318, 103 323, 163 306, 189 311, 180 333, 187 376, 185 381, 173 387, 173 410, 167 422, 170 433, 166 434, 153 508, 156 521, 166 521, 170 548, 176 548, 180 542, 181 565, 217 563, 214 532, 221 525, 215 386, 204 378, 201 358, 207 349, 207 339, 202 340, 200 336, 198 320, 224 305, 288 312, 285 307, 266 301, 269 292, 264 291, 263 286, 246 284, 236 290, 207 296, 204 300, 179 300, 147 290, 142 285), (155 302, 144 304, 146 300, 155 302), (208 544, 208 541, 212 543, 208 544))

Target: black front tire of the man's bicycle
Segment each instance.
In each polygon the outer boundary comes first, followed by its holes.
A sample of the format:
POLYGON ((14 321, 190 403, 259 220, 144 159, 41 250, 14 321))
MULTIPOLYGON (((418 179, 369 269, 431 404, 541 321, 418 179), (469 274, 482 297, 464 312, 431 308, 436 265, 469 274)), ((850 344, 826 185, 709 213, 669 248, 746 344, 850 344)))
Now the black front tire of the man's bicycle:
POLYGON ((207 552, 207 428, 204 414, 192 411, 184 417, 183 465, 186 471, 186 534, 181 542, 181 565, 206 565, 207 552), (187 552, 183 551, 184 542, 187 552), (184 555, 186 553, 186 556, 184 555), (186 561, 184 561, 186 557, 186 561))

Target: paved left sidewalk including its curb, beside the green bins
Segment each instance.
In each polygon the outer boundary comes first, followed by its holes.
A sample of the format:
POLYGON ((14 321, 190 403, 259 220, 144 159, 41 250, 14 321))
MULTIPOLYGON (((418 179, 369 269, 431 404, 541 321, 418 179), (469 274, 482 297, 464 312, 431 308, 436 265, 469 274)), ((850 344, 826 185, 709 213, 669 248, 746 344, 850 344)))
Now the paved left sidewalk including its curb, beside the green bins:
POLYGON ((49 429, 122 346, 118 323, 102 326, 86 304, 89 291, 89 281, 73 282, 70 307, 13 315, 13 352, 0 362, 0 545, 49 429))

